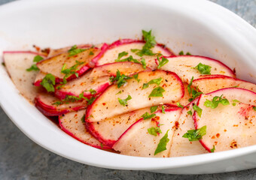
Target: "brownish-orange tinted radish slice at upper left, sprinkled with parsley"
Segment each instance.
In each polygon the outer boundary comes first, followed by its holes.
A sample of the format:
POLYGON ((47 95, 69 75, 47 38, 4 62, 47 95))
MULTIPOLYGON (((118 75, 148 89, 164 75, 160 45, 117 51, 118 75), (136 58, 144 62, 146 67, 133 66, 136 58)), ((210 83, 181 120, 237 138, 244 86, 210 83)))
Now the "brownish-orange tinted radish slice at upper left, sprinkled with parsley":
MULTIPOLYGON (((65 77, 65 74, 61 73, 64 64, 66 64, 66 69, 68 69, 74 65, 77 65, 76 62, 83 62, 84 64, 78 65, 76 68, 76 73, 80 77, 90 68, 90 66, 98 61, 107 47, 107 44, 103 44, 101 49, 93 47, 72 56, 69 56, 69 52, 64 52, 60 55, 56 55, 51 58, 44 59, 44 61, 38 62, 37 66, 44 74, 53 74, 56 79, 62 81, 63 77, 65 77)), ((69 81, 74 78, 76 78, 76 76, 75 74, 72 74, 67 77, 66 80, 69 81)))

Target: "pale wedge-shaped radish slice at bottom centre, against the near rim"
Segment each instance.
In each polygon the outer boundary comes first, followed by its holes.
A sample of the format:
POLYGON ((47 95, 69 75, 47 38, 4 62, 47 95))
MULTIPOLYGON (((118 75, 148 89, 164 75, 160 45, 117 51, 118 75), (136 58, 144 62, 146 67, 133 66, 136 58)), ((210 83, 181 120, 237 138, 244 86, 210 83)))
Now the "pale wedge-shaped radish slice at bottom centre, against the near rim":
POLYGON ((114 144, 113 148, 120 151, 120 154, 142 157, 169 157, 172 136, 175 131, 175 124, 181 115, 181 108, 172 108, 166 110, 166 113, 156 113, 152 119, 141 119, 136 121, 114 144), (157 124, 161 124, 160 126, 157 124), (157 136, 148 133, 148 128, 160 127, 162 133, 157 136), (168 131, 169 142, 166 144, 166 150, 154 155, 160 139, 168 131))

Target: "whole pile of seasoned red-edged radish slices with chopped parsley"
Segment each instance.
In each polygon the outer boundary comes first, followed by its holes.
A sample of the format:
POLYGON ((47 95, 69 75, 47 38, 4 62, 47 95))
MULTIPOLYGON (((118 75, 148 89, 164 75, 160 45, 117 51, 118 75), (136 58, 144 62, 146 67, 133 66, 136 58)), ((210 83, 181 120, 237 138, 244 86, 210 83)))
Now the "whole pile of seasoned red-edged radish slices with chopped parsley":
POLYGON ((256 144, 256 85, 142 33, 143 40, 4 52, 4 64, 21 95, 96 148, 178 157, 256 144))

